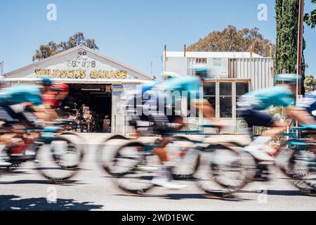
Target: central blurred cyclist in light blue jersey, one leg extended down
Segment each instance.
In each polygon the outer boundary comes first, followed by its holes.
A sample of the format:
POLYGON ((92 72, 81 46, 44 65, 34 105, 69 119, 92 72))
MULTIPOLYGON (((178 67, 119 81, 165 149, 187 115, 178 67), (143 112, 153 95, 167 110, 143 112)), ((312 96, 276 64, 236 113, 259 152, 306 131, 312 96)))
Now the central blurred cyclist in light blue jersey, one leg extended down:
MULTIPOLYGON (((200 98, 200 89, 203 86, 203 78, 207 75, 206 68, 195 68, 196 76, 180 76, 174 73, 167 73, 167 79, 145 92, 143 99, 143 114, 154 124, 156 134, 162 136, 161 145, 154 149, 162 162, 162 170, 152 183, 166 188, 178 189, 185 186, 172 181, 169 157, 166 153, 166 144, 169 140, 169 131, 177 131, 183 127, 183 117, 180 113, 179 101, 187 98, 188 103, 197 110, 201 110, 205 117, 213 120, 215 111, 208 101, 200 98), (179 107, 177 107, 179 106, 179 107)), ((213 124, 221 127, 218 122, 213 124)))

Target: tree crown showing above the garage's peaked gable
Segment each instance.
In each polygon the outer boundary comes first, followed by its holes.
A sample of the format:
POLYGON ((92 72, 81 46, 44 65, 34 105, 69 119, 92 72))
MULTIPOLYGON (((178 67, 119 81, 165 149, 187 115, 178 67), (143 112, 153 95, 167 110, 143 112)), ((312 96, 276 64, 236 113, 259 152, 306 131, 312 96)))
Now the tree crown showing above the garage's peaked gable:
POLYGON ((98 50, 98 46, 94 39, 86 39, 84 33, 78 32, 72 35, 67 41, 61 41, 60 44, 56 44, 54 41, 50 41, 48 44, 39 46, 33 56, 33 62, 35 60, 43 60, 67 49, 72 49, 75 46, 87 46, 90 49, 98 50))

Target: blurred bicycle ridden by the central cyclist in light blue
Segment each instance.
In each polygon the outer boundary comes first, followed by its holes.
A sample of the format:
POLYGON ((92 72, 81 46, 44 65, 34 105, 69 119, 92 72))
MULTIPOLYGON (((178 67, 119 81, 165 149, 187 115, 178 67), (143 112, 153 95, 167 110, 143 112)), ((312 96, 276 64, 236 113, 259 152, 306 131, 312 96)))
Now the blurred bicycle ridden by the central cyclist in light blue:
MULTIPOLYGON (((191 143, 190 146, 180 148, 180 156, 170 162, 171 165, 173 165, 173 174, 177 174, 175 169, 179 169, 179 165, 187 169, 187 172, 180 174, 178 178, 181 179, 183 178, 181 176, 184 175, 185 177, 197 179, 197 181, 199 181, 199 188, 202 188, 206 193, 213 193, 210 188, 210 182, 213 183, 213 181, 216 181, 217 184, 220 184, 222 188, 227 190, 225 193, 223 192, 223 195, 236 192, 249 182, 250 179, 248 177, 251 177, 252 174, 249 174, 250 169, 248 167, 251 165, 253 168, 254 162, 249 162, 249 159, 252 160, 252 158, 250 158, 247 153, 232 148, 231 143, 205 143, 202 131, 176 131, 169 132, 168 134, 174 135, 169 138, 169 143, 175 143, 177 141, 191 143), (202 140, 191 140, 183 136, 176 136, 180 134, 199 134, 202 135, 202 140), (206 172, 202 173, 204 176, 198 177, 196 175, 201 166, 202 152, 211 153, 213 160, 207 163, 206 172), (232 155, 232 159, 219 163, 219 159, 223 158, 224 152, 228 155, 232 155), (235 176, 246 176, 247 178, 239 179, 239 184, 224 181, 219 173, 220 169, 224 167, 230 169, 228 172, 233 172, 235 176)), ((140 141, 128 141, 128 143, 119 146, 119 148, 114 151, 115 155, 112 158, 112 167, 108 167, 107 172, 110 170, 109 173, 114 176, 121 190, 127 193, 141 195, 154 187, 151 180, 154 178, 155 172, 157 172, 160 166, 157 155, 152 153, 152 150, 159 146, 159 144, 159 140, 147 144, 140 141)))

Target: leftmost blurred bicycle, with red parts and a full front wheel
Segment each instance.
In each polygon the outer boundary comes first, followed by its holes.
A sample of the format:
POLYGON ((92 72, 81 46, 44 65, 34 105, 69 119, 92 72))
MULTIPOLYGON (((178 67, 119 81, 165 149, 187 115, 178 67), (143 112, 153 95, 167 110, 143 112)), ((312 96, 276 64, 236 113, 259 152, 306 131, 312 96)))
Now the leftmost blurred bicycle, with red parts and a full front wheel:
MULTIPOLYGON (((62 125, 67 122, 58 120, 55 124, 62 125)), ((13 127, 16 127, 16 124, 13 127)), ((79 171, 79 165, 84 158, 84 150, 80 144, 77 145, 67 137, 76 134, 63 132, 61 127, 13 128, 10 132, 32 133, 38 134, 38 136, 29 139, 22 135, 22 143, 12 143, 6 146, 3 150, 5 155, 2 155, 2 158, 6 162, 10 162, 11 166, 0 168, 2 172, 17 169, 24 162, 34 161, 39 174, 52 183, 58 184, 65 183, 79 171), (49 160, 50 162, 48 162, 49 160), (44 163, 48 163, 48 165, 44 165, 44 163)))

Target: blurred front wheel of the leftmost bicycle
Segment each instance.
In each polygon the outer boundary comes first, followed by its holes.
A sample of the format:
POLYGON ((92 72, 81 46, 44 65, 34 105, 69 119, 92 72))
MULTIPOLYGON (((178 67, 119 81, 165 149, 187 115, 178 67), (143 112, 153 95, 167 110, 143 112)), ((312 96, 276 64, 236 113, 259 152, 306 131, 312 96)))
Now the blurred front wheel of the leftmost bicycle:
POLYGON ((79 171, 84 158, 81 145, 58 136, 49 143, 36 142, 37 156, 35 165, 39 173, 53 183, 64 183, 79 171))

